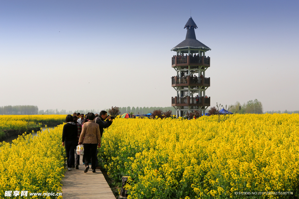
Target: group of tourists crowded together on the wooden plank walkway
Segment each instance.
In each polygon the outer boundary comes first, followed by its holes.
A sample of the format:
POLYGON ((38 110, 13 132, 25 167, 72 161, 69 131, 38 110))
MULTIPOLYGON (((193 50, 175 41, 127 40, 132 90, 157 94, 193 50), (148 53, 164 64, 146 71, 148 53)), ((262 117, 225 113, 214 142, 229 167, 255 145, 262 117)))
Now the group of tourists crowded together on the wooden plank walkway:
POLYGON ((65 147, 66 157, 68 158, 68 171, 71 171, 71 168, 79 169, 80 155, 77 155, 75 151, 77 145, 83 144, 84 173, 88 171, 89 163, 91 163, 92 172, 95 173, 98 162, 97 147, 101 147, 104 128, 108 128, 113 119, 103 110, 100 114, 89 112, 86 115, 80 113, 67 115, 65 122, 66 124, 62 130, 62 146, 65 147))

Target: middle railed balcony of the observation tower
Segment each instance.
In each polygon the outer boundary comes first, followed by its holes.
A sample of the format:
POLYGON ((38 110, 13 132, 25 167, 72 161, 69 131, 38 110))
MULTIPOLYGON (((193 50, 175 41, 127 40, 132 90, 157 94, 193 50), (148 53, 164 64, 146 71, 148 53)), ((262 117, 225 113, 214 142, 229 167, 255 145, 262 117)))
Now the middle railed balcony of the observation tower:
POLYGON ((210 86, 210 78, 207 77, 173 77, 171 79, 171 86, 210 86))

